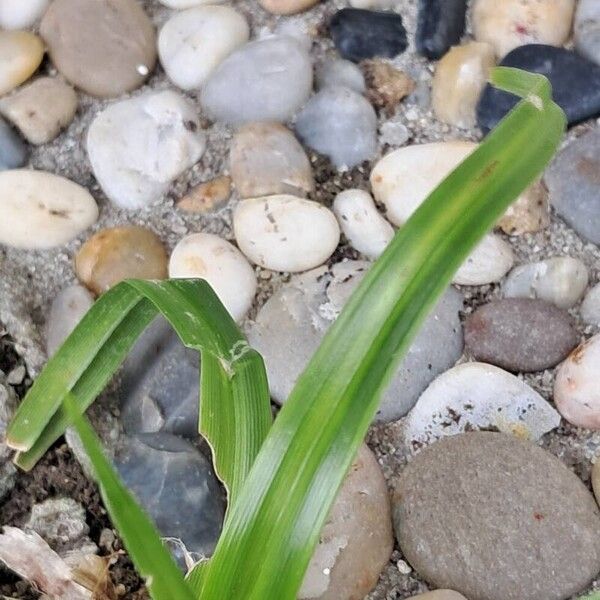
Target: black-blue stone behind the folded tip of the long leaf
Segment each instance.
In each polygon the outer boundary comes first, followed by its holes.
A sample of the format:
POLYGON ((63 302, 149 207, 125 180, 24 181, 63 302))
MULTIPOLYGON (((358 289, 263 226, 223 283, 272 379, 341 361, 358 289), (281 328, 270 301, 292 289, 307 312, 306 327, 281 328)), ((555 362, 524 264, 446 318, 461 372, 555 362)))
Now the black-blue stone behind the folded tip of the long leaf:
MULTIPOLYGON (((572 50, 542 44, 519 46, 502 59, 500 66, 545 75, 552 85, 552 97, 570 125, 600 113, 600 66, 572 50)), ((515 95, 488 84, 477 106, 479 127, 493 129, 518 101, 515 95)))

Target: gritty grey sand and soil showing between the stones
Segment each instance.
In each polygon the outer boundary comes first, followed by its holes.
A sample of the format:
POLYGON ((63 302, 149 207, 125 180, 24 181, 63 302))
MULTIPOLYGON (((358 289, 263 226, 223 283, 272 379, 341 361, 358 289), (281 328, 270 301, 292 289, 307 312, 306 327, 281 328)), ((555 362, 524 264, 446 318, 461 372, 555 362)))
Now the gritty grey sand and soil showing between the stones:
MULTIPOLYGON (((145 0, 144 8, 151 16, 157 27, 160 27, 171 11, 154 0, 145 0)), ((313 57, 326 54, 335 55, 332 42, 327 35, 324 24, 328 18, 339 8, 345 6, 343 2, 327 0, 307 13, 295 17, 284 17, 289 20, 298 20, 306 23, 313 36, 313 57)), ((236 9, 242 12, 251 25, 252 38, 261 31, 273 30, 278 17, 270 15, 259 8, 254 0, 241 0, 236 3, 236 9)), ((414 49, 414 31, 416 27, 416 0, 396 0, 396 10, 399 12, 409 34, 408 50, 393 61, 394 65, 407 72, 416 82, 416 91, 404 100, 396 110, 395 118, 399 119, 409 131, 409 143, 424 143, 450 139, 480 139, 478 130, 465 131, 453 129, 435 119, 430 110, 428 100, 430 81, 433 74, 433 63, 418 57, 414 49)), ((48 72, 51 65, 45 63, 41 71, 48 72)), ((132 96, 137 96, 150 89, 162 90, 172 88, 164 71, 157 66, 148 82, 132 96)), ((85 151, 85 136, 94 116, 102 110, 109 101, 101 101, 78 92, 80 106, 75 121, 56 140, 41 147, 32 148, 30 165, 56 173, 75 181, 91 191, 100 207, 100 219, 91 231, 85 233, 85 238, 94 231, 105 227, 135 224, 148 227, 156 232, 169 250, 186 234, 204 231, 219 234, 226 239, 233 239, 231 231, 231 209, 237 201, 235 193, 229 205, 217 212, 204 215, 190 215, 177 211, 174 202, 181 198, 185 192, 197 183, 217 177, 228 169, 228 150, 232 132, 221 124, 206 123, 207 126, 207 151, 201 161, 192 169, 176 180, 171 186, 167 196, 157 206, 144 210, 124 211, 117 209, 109 203, 97 185, 85 151)), ((188 98, 195 103, 200 112, 196 93, 187 93, 188 98)), ((379 114, 380 124, 389 117, 382 112, 379 114)), ((584 133, 592 123, 584 123, 569 131, 568 138, 578 137, 584 133)), ((388 147, 381 145, 383 154, 388 147)), ((324 158, 309 154, 314 168, 317 192, 314 200, 330 206, 335 195, 350 187, 369 189, 368 175, 371 165, 364 164, 348 172, 340 173, 324 158)), ((373 161, 374 163, 375 161, 373 161)), ((15 340, 7 364, 0 363, 0 368, 9 371, 19 364, 26 364, 29 370, 28 377, 33 377, 43 365, 45 355, 41 332, 45 315, 51 300, 58 291, 65 286, 75 283, 73 270, 73 256, 82 243, 82 237, 63 245, 59 248, 22 252, 16 249, 3 247, 0 249, 0 320, 4 327, 15 340), (14 351, 13 351, 14 350, 14 351), (5 368, 6 367, 6 368, 5 368)), ((526 234, 520 237, 509 238, 517 263, 542 260, 551 256, 573 256, 580 258, 590 270, 590 286, 600 280, 600 249, 580 238, 572 229, 567 227, 555 215, 552 216, 551 225, 541 232, 526 234)), ((350 247, 340 247, 331 262, 342 257, 357 258, 358 255, 350 247)), ((255 305, 250 313, 254 316, 258 308, 268 299, 274 288, 287 279, 286 275, 274 274, 270 271, 257 268, 259 280, 259 293, 255 305)), ((499 297, 496 285, 480 286, 478 288, 463 288, 465 292, 465 316, 476 307, 492 298, 499 297)), ((576 319, 578 333, 582 340, 591 334, 597 333, 591 326, 584 326, 578 317, 578 311, 570 311, 576 319)), ((0 331, 2 327, 0 327, 0 331)), ((0 343, 8 344, 8 338, 0 338, 0 343), (4 339, 4 342, 2 341, 4 339)), ((6 346, 7 347, 7 346, 6 346)), ((3 352, 0 351, 0 358, 3 352)), ((5 353, 8 356, 7 353, 5 353)), ((554 369, 545 372, 524 375, 523 379, 546 399, 552 397, 554 369)), ((25 381, 25 384, 27 381, 25 381)), ((23 392, 25 384, 17 391, 23 392)), ((393 488, 400 472, 406 464, 405 450, 400 444, 398 423, 373 426, 370 430, 368 443, 375 451, 383 468, 384 475, 390 489, 393 488)), ((579 430, 565 421, 562 425, 547 434, 542 445, 547 450, 559 457, 571 468, 586 484, 589 485, 591 460, 600 449, 600 432, 590 433, 579 430)), ((63 445, 52 451, 47 459, 40 465, 46 475, 55 473, 64 474, 64 480, 72 480, 72 486, 64 481, 57 483, 55 489, 61 489, 67 495, 72 494, 77 500, 83 498, 87 506, 88 517, 92 525, 92 534, 98 534, 102 527, 108 523, 105 513, 99 504, 97 494, 91 484, 84 480, 69 451, 63 445), (83 481, 82 481, 83 480, 83 481)), ((14 494, 31 494, 34 500, 36 492, 32 484, 27 489, 27 482, 35 481, 36 476, 21 475, 19 484, 14 494)), ((60 479, 60 478, 59 478, 60 479)), ((4 505, 0 506, 0 521, 19 524, 22 518, 23 507, 19 508, 19 501, 9 497, 4 505)), ((116 577, 123 583, 127 590, 127 597, 144 597, 143 592, 136 592, 140 582, 131 565, 121 559, 116 577), (138 595, 139 593, 139 595, 138 595)), ((576 565, 573 565, 576 568, 576 565)), ((0 571, 0 579, 2 572, 0 571)), ((600 586, 600 579, 595 583, 600 586)), ((401 600, 413 594, 427 591, 427 586, 404 562, 402 555, 396 549, 391 561, 381 575, 376 589, 368 596, 368 600, 401 600)), ((22 583, 7 583, 0 585, 0 593, 16 598, 35 598, 36 594, 22 583)))

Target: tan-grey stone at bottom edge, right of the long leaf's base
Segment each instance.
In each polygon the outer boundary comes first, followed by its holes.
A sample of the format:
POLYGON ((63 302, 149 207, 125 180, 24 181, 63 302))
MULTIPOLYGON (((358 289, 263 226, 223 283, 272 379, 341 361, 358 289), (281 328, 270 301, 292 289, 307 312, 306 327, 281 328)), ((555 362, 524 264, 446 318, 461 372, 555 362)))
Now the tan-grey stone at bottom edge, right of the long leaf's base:
POLYGON ((354 600, 376 585, 392 553, 391 507, 381 467, 362 445, 321 530, 300 600, 354 600))

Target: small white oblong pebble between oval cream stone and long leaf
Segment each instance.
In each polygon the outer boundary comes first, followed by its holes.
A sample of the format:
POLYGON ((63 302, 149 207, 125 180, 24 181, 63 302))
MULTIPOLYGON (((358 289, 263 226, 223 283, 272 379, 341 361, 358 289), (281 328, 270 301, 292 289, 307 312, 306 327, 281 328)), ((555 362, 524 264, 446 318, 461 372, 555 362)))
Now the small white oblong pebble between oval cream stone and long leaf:
POLYGON ((346 190, 333 202, 333 212, 350 245, 367 258, 379 258, 394 237, 394 228, 379 214, 363 190, 346 190))

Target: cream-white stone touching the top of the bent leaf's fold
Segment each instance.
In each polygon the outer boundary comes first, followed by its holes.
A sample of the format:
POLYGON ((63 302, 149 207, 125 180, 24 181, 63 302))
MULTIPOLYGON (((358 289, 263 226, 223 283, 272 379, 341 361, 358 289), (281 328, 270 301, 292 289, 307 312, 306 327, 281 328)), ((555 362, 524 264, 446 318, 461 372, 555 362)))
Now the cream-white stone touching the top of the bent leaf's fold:
POLYGON ((256 275, 243 254, 209 233, 188 235, 175 246, 169 277, 205 279, 236 321, 250 310, 256 293, 256 275))

